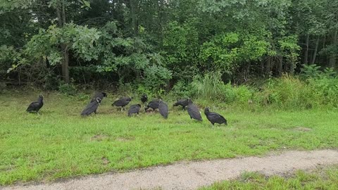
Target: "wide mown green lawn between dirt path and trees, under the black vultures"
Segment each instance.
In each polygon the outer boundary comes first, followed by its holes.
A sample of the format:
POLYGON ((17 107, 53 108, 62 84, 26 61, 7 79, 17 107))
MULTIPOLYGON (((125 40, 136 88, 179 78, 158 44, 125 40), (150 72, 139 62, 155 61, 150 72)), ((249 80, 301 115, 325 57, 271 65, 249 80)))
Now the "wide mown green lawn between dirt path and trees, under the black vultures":
MULTIPOLYGON (((285 149, 338 147, 337 110, 252 112, 216 108, 227 126, 190 120, 170 104, 168 120, 128 118, 109 94, 98 115, 82 118, 89 97, 44 93, 41 115, 26 113, 39 92, 0 94, 0 184, 52 180, 173 163, 252 156, 285 149)), ((199 101, 196 101, 198 103, 199 101)), ((133 101, 132 103, 137 103, 133 101)))

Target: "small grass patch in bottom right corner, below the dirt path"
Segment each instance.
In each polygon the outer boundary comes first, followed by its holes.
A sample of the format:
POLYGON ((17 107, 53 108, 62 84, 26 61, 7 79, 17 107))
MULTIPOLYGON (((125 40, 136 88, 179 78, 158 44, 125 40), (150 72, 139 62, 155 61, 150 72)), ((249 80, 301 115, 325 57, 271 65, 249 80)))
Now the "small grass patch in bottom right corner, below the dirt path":
POLYGON ((247 172, 239 179, 216 182, 203 187, 200 190, 223 190, 223 189, 337 189, 338 166, 321 168, 310 172, 297 171, 287 177, 266 177, 257 172, 247 172))

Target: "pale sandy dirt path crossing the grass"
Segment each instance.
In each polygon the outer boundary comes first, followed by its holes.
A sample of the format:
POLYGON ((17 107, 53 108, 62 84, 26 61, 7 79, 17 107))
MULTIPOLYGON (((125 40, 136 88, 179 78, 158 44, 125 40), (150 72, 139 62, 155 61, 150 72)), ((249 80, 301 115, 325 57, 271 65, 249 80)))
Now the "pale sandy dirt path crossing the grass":
MULTIPOLYGON (((274 175, 338 164, 338 151, 289 151, 262 158, 247 157, 149 167, 132 172, 82 177, 65 182, 4 189, 196 189, 213 182, 234 179, 244 171, 274 175)), ((1 188, 0 188, 1 189, 1 188)))

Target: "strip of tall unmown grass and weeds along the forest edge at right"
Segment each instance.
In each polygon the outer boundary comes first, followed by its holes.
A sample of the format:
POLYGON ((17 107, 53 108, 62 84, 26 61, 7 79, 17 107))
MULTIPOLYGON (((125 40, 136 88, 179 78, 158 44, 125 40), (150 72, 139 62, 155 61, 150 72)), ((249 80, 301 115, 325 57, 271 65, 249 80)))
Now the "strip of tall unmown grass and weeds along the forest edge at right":
MULTIPOLYGON (((269 79, 261 87, 255 88, 225 84, 220 72, 211 72, 203 77, 194 77, 187 89, 195 99, 233 103, 236 106, 253 103, 261 108, 272 106, 285 110, 338 107, 338 79, 335 77, 301 80, 297 76, 284 75, 269 79)), ((186 94, 187 89, 184 89, 186 94)))

